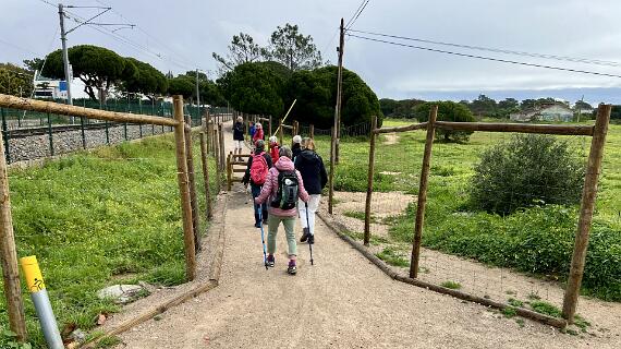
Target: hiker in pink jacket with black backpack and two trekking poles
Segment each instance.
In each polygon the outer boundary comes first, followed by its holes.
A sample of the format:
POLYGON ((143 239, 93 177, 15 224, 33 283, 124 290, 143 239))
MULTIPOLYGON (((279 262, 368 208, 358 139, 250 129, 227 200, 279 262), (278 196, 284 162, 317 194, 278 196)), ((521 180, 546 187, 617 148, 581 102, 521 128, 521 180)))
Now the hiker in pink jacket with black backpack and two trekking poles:
POLYGON ((289 265, 287 273, 295 275, 297 272, 295 260, 297 254, 297 243, 295 242, 295 216, 297 201, 305 203, 308 193, 304 189, 302 176, 293 166, 291 148, 282 146, 280 148, 278 163, 269 170, 267 179, 260 194, 255 198, 255 203, 269 203, 268 234, 267 234, 267 265, 273 267, 276 252, 276 234, 278 226, 282 222, 289 245, 289 265))

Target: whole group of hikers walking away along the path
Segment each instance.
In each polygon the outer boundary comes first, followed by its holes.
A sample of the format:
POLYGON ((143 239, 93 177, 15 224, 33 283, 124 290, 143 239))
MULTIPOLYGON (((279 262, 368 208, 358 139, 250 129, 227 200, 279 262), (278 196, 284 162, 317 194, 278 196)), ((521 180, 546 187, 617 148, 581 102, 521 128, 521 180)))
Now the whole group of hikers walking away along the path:
MULTIPOLYGON (((242 153, 244 141, 243 119, 233 125, 235 154, 242 153), (239 149, 239 151, 238 151, 239 149)), ((268 226, 266 267, 276 263, 276 237, 282 222, 287 236, 289 264, 287 273, 297 273, 297 241, 295 221, 302 226, 301 242, 315 243, 315 214, 319 208, 321 191, 328 182, 324 160, 315 152, 309 137, 293 136, 291 147, 278 144, 276 136, 268 139, 259 122, 249 128, 252 154, 242 182, 254 200, 255 227, 268 226)), ((265 251, 264 251, 265 252, 265 251)))

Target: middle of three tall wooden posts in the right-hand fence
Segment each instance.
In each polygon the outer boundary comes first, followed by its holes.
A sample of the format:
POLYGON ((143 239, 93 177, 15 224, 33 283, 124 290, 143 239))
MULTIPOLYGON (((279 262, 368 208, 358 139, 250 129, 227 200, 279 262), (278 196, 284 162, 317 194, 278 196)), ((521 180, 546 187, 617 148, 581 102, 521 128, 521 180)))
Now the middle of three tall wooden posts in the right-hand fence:
POLYGON ((418 186, 418 198, 416 205, 416 221, 414 225, 414 241, 412 243, 412 256, 410 260, 410 277, 418 277, 418 262, 421 258, 421 238, 425 224, 425 205, 427 204, 427 182, 429 180, 429 168, 431 163, 431 147, 434 146, 435 128, 434 123, 438 116, 438 106, 433 106, 429 110, 429 121, 427 122, 427 140, 425 141, 425 154, 423 155, 423 168, 421 169, 421 185, 418 186))

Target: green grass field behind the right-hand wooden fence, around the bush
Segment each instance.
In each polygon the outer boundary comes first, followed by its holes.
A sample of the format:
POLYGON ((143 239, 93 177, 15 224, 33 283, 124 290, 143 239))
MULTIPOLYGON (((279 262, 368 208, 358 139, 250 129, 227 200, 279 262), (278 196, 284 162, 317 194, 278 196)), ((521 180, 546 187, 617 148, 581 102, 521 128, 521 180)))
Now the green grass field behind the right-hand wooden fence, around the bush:
MULTIPOLYGON (((386 120, 383 127, 403 125, 386 120)), ((426 225, 427 248, 472 257, 521 272, 565 279, 571 262, 579 206, 545 205, 520 209, 501 217, 472 210, 467 189, 478 155, 507 133, 476 132, 464 144, 434 144, 426 225)), ((395 144, 382 144, 376 152, 374 190, 417 194, 425 132, 401 133, 395 144)), ((586 160, 590 137, 569 137, 571 146, 586 160)), ((319 140, 320 154, 329 154, 329 140, 319 140)), ((366 191, 368 141, 343 140, 334 185, 339 191, 366 191)), ((583 292, 621 301, 621 127, 610 125, 607 137, 597 209, 583 281, 583 292)), ((415 204, 392 219, 390 238, 410 243, 415 204)), ((388 255, 387 253, 385 253, 388 255)), ((407 255, 407 253, 405 253, 407 255)))

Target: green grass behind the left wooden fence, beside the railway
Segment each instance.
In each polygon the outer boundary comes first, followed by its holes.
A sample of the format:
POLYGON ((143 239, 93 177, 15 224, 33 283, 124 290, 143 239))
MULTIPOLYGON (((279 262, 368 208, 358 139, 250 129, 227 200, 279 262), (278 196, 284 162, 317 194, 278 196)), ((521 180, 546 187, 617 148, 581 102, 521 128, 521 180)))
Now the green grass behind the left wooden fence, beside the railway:
MULTIPOLYGON (((196 145, 198 142, 195 143, 196 145)), ((199 212, 205 195, 195 152, 199 212)), ((210 174, 215 189, 215 164, 210 174)), ((78 153, 9 173, 19 256, 36 255, 59 326, 94 327, 119 306, 97 290, 121 280, 184 282, 184 253, 171 135, 78 153)), ((202 228, 206 222, 203 221, 202 228)), ((24 285, 23 285, 24 287, 24 285)), ((45 347, 24 288, 29 338, 45 347)), ((0 333, 8 317, 0 298, 0 333)), ((0 338, 0 344, 2 344, 0 338)))

